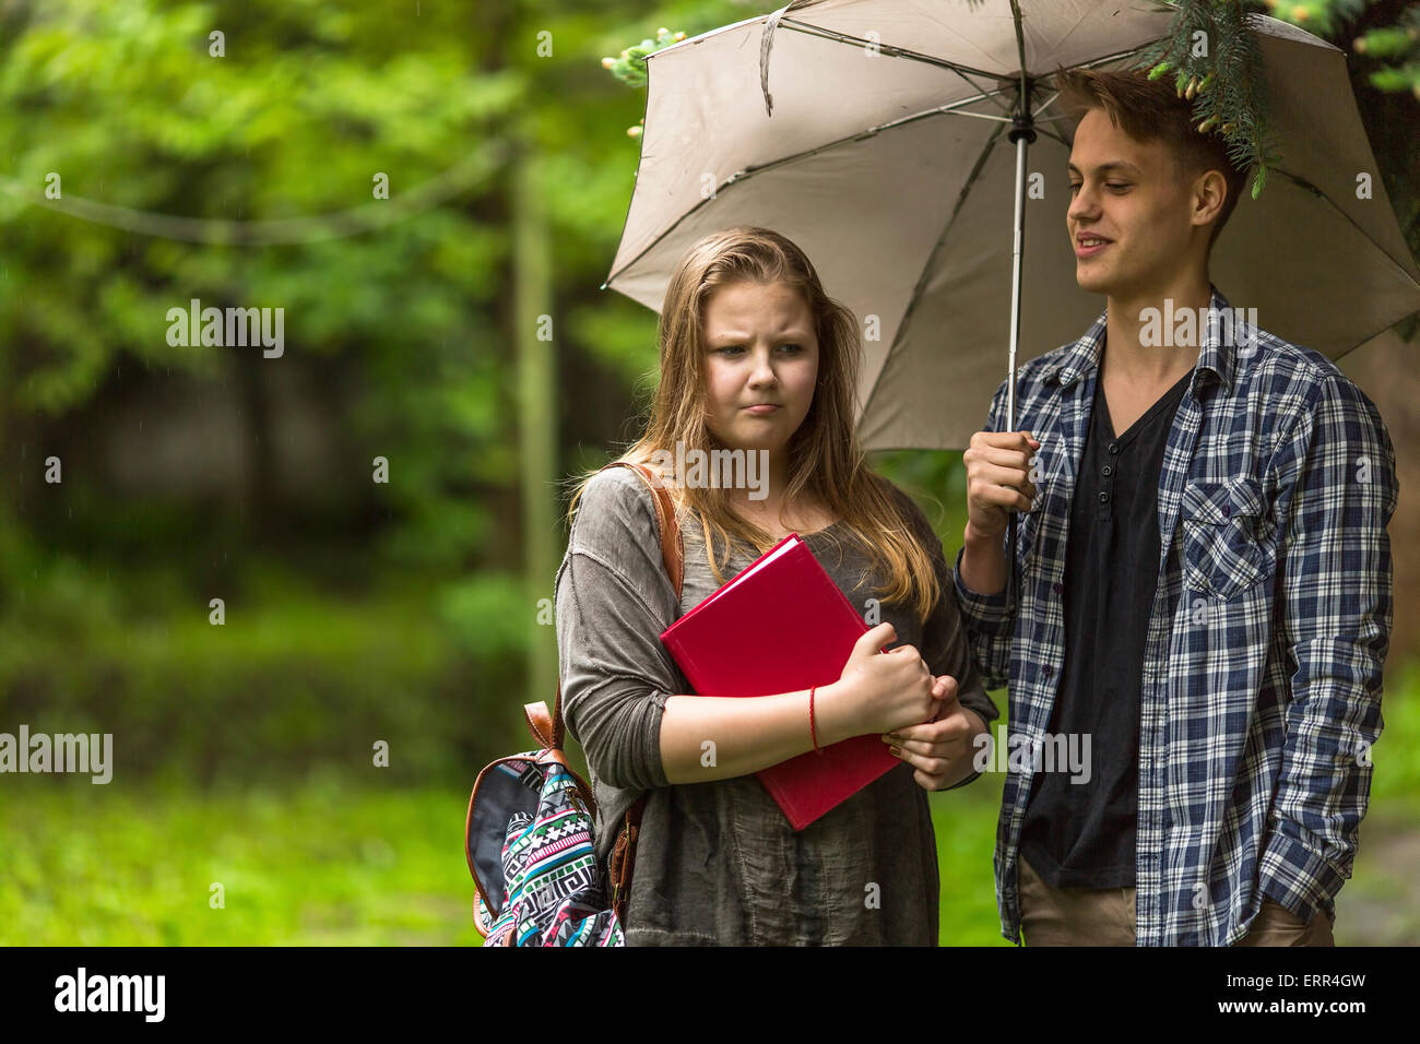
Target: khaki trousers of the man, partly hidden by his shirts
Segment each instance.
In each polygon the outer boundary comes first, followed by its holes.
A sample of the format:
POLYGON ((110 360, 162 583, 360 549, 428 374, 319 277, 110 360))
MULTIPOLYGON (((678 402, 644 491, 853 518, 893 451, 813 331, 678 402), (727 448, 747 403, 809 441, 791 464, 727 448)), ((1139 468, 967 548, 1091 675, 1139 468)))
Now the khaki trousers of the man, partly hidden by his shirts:
MULTIPOLYGON (((1051 888, 1017 857, 1021 935, 1027 946, 1133 946, 1133 888, 1051 888)), ((1335 946, 1335 915, 1318 913, 1306 925, 1271 899, 1234 946, 1335 946)))

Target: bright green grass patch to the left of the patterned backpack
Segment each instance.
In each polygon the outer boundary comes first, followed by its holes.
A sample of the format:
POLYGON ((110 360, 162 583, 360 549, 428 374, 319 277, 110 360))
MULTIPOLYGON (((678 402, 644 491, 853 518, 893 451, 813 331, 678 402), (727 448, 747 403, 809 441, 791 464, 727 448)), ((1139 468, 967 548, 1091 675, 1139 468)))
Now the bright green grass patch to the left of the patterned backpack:
POLYGON ((26 790, 0 808, 3 945, 479 942, 467 794, 26 790))

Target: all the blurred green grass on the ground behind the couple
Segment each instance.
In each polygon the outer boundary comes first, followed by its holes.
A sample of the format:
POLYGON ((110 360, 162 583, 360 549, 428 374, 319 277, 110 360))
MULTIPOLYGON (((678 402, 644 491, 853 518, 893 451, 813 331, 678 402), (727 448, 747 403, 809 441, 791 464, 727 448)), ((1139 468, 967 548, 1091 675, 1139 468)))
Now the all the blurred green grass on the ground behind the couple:
MULTIPOLYGON (((1420 942, 1420 692, 1386 700, 1338 943, 1420 942)), ((471 781, 471 774, 470 774, 471 781)), ((7 776, 0 945, 477 945, 466 790, 193 791, 7 776), (213 885, 223 905, 214 908, 213 885)), ((1001 777, 932 797, 940 939, 1007 946, 991 851, 1001 777)))

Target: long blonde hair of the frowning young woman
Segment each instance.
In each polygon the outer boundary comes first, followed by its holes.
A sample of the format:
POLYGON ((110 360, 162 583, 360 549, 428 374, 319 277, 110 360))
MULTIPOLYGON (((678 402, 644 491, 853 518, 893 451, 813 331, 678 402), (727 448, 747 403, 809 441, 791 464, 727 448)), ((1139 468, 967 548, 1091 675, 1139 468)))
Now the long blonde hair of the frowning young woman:
MULTIPOLYGON (((660 384, 652 402, 645 435, 618 460, 655 467, 652 455, 674 456, 683 443, 692 449, 727 449, 706 425, 704 303, 730 283, 788 283, 799 288, 814 317, 818 337, 818 384, 804 423, 787 447, 785 504, 809 493, 825 504, 843 527, 863 541, 872 560, 885 564, 888 582, 876 594, 883 602, 912 602, 926 621, 940 597, 927 551, 912 533, 895 500, 892 483, 875 474, 863 457, 853 426, 858 389, 859 338, 852 311, 824 293, 814 266, 784 236, 770 229, 740 226, 706 236, 692 246, 670 276, 660 311, 660 384)), ((577 486, 567 510, 571 524, 586 482, 595 470, 574 476, 577 486)), ((746 521, 730 506, 726 489, 694 484, 666 489, 684 518, 693 509, 704 534, 706 561, 716 581, 733 547, 748 547, 755 557, 774 545, 771 535, 746 521), (724 548, 716 562, 711 533, 724 548)))

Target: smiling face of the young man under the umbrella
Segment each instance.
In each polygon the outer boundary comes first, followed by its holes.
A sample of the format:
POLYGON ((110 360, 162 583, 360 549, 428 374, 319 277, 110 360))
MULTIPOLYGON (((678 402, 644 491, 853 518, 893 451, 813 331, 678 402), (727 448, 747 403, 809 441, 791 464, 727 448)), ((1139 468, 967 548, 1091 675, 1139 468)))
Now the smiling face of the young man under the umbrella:
POLYGON ((1089 109, 1075 132, 1069 180, 1065 224, 1081 290, 1153 295, 1189 264, 1191 179, 1179 175, 1163 141, 1136 141, 1108 112, 1089 109))

